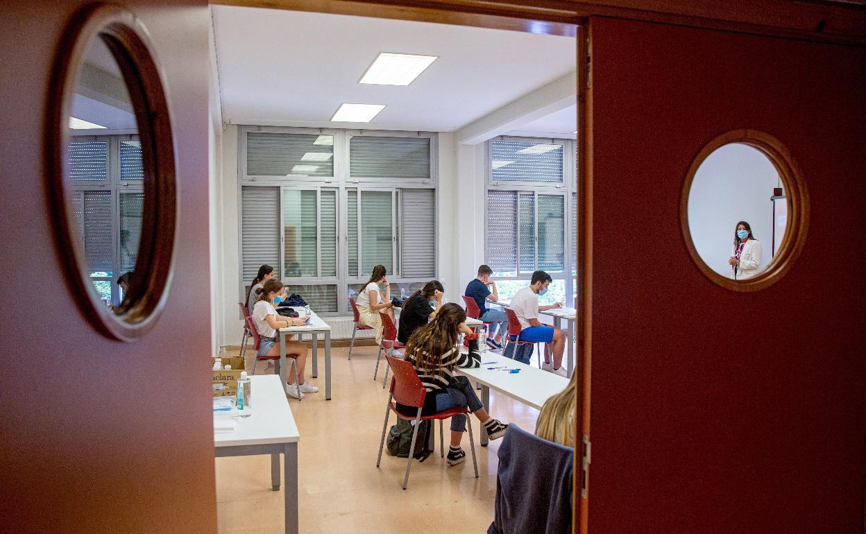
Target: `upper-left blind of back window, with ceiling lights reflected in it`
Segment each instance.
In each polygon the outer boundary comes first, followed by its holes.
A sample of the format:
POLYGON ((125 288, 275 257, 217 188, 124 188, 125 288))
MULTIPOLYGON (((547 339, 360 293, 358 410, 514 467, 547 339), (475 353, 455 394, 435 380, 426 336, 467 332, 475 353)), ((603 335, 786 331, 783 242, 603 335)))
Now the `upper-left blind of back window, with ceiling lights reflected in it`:
POLYGON ((247 175, 333 177, 333 136, 248 132, 247 175))

